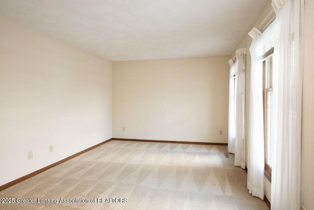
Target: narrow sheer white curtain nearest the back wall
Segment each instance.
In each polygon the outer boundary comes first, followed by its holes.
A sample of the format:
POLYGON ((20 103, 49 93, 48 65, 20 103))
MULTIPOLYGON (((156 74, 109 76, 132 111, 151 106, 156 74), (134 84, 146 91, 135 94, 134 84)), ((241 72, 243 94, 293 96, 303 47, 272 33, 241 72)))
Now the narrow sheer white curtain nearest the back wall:
POLYGON ((235 153, 235 64, 232 59, 229 76, 228 152, 235 153))

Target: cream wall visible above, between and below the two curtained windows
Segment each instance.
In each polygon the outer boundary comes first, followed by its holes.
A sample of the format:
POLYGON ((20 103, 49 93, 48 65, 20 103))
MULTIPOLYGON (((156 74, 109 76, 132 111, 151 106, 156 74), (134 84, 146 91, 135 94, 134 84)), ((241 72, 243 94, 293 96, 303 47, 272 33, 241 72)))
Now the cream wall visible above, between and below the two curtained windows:
MULTIPOLYGON (((253 29, 253 27, 260 28, 263 30, 275 17, 275 12, 271 6, 271 0, 269 0, 264 8, 262 9, 261 13, 257 17, 257 19, 254 21, 253 25, 248 29, 247 32, 253 29)), ((247 55, 246 55, 246 75, 245 75, 245 136, 249 136, 249 106, 250 106, 250 73, 251 73, 251 55, 249 48, 252 43, 252 38, 249 35, 245 35, 239 44, 237 45, 236 49, 240 49, 245 47, 247 49, 247 55)), ((232 55, 232 58, 235 57, 235 54, 232 55)), ((245 139, 246 145, 248 145, 248 138, 245 139)), ((247 157, 248 157, 248 147, 246 149, 246 160, 245 164, 247 165, 247 157)), ((267 199, 271 202, 271 183, 266 178, 264 179, 265 183, 265 196, 267 199)))

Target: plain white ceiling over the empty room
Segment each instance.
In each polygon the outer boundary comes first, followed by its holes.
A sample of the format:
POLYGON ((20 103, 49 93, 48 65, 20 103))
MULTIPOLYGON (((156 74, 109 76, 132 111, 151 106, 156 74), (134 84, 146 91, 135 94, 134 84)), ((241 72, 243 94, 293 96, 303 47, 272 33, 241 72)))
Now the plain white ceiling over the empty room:
POLYGON ((0 0, 0 15, 106 60, 231 55, 267 0, 0 0))

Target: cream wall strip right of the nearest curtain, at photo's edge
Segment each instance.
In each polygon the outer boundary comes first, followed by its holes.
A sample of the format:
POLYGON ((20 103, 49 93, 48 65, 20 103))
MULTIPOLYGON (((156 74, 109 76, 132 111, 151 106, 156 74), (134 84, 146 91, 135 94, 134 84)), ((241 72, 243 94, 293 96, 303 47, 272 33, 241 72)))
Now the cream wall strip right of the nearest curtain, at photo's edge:
POLYGON ((305 1, 305 49, 303 69, 302 135, 301 135, 301 204, 314 209, 314 1, 305 1))

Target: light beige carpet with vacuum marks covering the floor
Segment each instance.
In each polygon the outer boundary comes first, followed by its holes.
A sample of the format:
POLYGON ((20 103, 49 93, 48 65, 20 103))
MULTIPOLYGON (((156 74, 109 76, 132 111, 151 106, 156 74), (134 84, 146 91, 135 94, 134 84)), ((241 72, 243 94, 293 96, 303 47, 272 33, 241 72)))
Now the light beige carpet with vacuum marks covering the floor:
POLYGON ((226 152, 227 146, 110 141, 0 191, 0 198, 15 199, 0 209, 268 210, 248 193, 246 172, 226 152))

